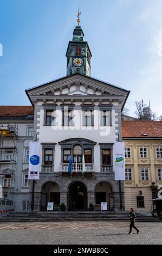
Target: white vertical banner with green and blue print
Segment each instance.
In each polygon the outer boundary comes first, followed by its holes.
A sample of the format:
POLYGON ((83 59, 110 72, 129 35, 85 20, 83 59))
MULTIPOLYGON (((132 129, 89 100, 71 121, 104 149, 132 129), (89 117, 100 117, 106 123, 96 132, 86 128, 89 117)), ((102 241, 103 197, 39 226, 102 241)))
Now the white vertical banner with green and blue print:
POLYGON ((125 180, 125 146, 124 142, 114 144, 115 180, 125 180))

